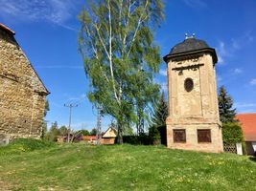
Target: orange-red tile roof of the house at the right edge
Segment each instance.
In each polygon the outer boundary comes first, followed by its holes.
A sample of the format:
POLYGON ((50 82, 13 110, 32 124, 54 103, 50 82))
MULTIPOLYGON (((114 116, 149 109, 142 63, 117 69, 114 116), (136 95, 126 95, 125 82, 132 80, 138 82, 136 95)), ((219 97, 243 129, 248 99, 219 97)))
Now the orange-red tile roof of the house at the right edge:
POLYGON ((256 113, 238 114, 236 117, 242 124, 245 141, 256 141, 256 113))

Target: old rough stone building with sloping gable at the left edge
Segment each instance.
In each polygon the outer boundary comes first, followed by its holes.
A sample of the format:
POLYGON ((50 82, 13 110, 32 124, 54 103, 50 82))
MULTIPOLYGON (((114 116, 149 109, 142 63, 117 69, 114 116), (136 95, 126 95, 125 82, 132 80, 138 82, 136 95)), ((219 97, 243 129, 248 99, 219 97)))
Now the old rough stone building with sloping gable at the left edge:
POLYGON ((49 94, 14 34, 0 24, 0 142, 39 138, 49 94))

